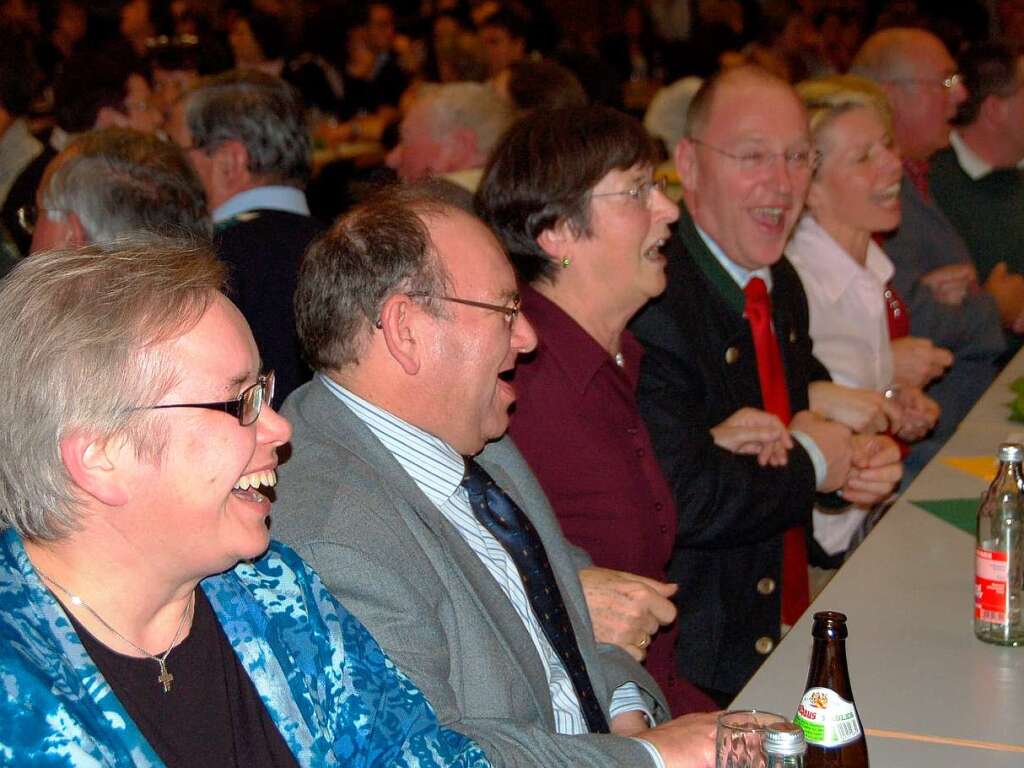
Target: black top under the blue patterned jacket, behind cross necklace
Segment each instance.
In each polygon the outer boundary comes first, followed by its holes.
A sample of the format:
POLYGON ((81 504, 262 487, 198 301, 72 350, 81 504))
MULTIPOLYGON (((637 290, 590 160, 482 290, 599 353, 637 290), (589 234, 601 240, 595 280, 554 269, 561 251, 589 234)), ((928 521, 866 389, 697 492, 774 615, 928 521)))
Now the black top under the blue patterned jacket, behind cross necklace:
POLYGON ((168 768, 298 765, 203 590, 196 590, 191 631, 167 657, 167 670, 174 676, 168 693, 157 681, 157 662, 117 653, 70 612, 69 618, 111 689, 168 768))

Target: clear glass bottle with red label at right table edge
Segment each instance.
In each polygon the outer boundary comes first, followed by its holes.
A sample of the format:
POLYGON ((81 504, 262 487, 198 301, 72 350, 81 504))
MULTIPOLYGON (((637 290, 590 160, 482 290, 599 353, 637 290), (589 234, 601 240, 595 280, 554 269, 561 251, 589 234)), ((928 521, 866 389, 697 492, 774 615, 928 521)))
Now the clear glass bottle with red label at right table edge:
POLYGON ((978 508, 974 568, 974 634, 986 643, 1024 644, 1024 447, 999 445, 999 469, 978 508))

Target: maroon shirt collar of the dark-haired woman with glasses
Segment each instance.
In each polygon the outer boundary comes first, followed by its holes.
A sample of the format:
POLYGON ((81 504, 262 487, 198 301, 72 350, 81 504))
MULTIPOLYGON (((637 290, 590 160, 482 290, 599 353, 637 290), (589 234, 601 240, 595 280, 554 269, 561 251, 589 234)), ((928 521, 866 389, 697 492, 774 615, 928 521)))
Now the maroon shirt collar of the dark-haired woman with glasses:
MULTIPOLYGON (((529 285, 521 285, 523 313, 529 318, 540 340, 536 354, 547 354, 558 361, 572 384, 584 392, 598 372, 607 366, 618 369, 611 355, 560 306, 529 285)), ((626 365, 621 369, 635 388, 640 375, 643 347, 629 331, 621 344, 626 365)), ((519 365, 528 366, 529 362, 519 365)))

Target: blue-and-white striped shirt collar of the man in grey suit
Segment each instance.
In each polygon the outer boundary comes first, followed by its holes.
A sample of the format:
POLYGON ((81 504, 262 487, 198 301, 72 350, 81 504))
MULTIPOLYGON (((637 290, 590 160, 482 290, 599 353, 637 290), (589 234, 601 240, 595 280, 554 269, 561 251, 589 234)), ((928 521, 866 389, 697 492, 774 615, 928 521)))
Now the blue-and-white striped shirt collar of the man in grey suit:
POLYGON ((466 462, 444 440, 352 393, 324 374, 316 378, 380 440, 430 503, 440 508, 462 485, 466 462))

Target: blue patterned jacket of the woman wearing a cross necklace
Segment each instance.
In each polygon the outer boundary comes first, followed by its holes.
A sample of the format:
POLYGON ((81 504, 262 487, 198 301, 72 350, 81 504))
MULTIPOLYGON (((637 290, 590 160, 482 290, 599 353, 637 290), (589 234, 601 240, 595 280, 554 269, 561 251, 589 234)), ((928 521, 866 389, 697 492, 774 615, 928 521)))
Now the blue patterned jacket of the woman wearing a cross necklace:
MULTIPOLYGON (((419 689, 288 547, 271 543, 202 587, 300 765, 488 765, 438 725, 419 689)), ((162 765, 9 529, 0 534, 0 765, 162 765)))

